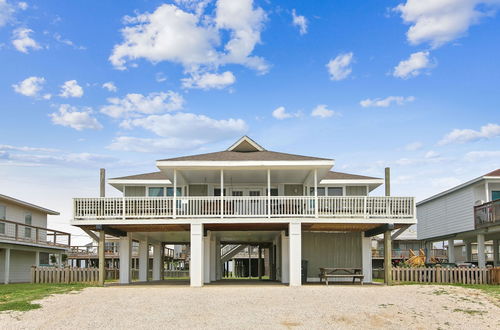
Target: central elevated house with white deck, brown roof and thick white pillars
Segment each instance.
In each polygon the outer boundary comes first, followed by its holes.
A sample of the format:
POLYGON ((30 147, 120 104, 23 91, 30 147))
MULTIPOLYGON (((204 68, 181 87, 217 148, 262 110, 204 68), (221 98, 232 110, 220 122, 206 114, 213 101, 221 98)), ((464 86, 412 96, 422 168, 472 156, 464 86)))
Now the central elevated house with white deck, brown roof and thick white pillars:
MULTIPOLYGON (((191 286, 221 279, 221 251, 245 244, 268 249, 271 279, 291 286, 301 285, 302 260, 309 280, 320 267, 344 267, 370 282, 370 237, 385 233, 390 249, 391 230, 416 223, 414 198, 371 197, 383 179, 332 172, 334 163, 267 151, 244 136, 225 151, 109 179, 123 197, 75 198, 71 223, 99 232, 102 246, 104 233, 120 237, 121 283, 130 282, 132 240, 140 259, 154 246, 153 280, 161 278, 162 244, 190 245, 191 286)), ((141 281, 147 268, 139 261, 141 281)))

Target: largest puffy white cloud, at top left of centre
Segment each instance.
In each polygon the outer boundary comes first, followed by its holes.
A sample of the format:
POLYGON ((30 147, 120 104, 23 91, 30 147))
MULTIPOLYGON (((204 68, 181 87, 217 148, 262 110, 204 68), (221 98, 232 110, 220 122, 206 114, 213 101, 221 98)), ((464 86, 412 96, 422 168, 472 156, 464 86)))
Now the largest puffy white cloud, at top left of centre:
POLYGON ((190 3, 178 1, 186 10, 163 4, 153 13, 126 17, 129 26, 121 31, 124 41, 114 46, 109 57, 113 66, 123 70, 127 62, 144 58, 180 63, 188 72, 224 64, 242 64, 261 73, 268 70, 262 58, 252 55, 266 19, 252 0, 218 0, 214 13, 205 12, 205 5, 190 12, 190 3), (222 44, 224 33, 229 33, 229 40, 222 44))

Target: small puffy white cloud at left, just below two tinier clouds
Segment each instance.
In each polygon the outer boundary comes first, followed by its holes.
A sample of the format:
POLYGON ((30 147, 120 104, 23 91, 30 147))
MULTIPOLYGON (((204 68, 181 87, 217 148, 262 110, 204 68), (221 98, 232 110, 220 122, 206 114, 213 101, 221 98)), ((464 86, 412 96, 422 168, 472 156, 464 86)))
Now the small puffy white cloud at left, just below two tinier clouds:
POLYGON ((78 111, 76 107, 69 104, 61 104, 59 111, 50 114, 52 122, 56 125, 71 127, 77 131, 85 129, 98 130, 102 129, 101 123, 96 118, 92 117, 92 109, 84 108, 78 111))

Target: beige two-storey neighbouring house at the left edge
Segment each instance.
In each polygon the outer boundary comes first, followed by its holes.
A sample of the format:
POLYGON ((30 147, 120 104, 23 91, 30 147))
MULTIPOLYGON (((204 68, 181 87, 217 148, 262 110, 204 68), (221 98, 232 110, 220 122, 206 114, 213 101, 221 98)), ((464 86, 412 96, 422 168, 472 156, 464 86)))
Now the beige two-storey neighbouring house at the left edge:
POLYGON ((29 282, 31 266, 59 263, 70 245, 70 234, 47 228, 47 215, 58 212, 0 195, 0 282, 29 282))

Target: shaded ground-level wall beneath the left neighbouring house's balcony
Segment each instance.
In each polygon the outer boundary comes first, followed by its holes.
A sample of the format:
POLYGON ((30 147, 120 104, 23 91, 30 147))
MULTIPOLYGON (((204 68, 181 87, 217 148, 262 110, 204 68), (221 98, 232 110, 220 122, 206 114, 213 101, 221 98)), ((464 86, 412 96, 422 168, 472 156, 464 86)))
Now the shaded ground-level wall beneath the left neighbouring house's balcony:
MULTIPOLYGON (((10 283, 30 282, 31 266, 35 264, 35 252, 10 250, 10 283)), ((5 250, 0 252, 0 283, 5 272, 5 250)))

